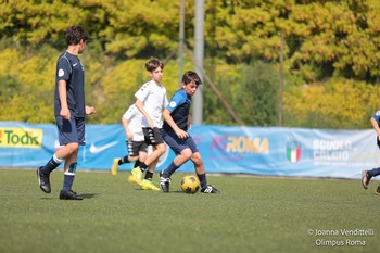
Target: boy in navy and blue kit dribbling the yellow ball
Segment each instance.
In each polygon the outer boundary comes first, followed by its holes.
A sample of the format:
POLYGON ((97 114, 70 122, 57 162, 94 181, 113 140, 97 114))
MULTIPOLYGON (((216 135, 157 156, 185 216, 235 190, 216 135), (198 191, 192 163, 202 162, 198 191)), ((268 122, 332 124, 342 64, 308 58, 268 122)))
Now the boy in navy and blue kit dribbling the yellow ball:
POLYGON ((162 128, 164 141, 176 153, 170 165, 160 173, 160 187, 163 192, 169 192, 170 176, 183 163, 191 160, 197 176, 201 182, 201 192, 220 193, 212 185, 207 185, 202 156, 192 137, 187 132, 190 127, 191 97, 195 93, 201 78, 194 72, 186 72, 182 76, 182 88, 178 90, 163 112, 165 119, 162 128))

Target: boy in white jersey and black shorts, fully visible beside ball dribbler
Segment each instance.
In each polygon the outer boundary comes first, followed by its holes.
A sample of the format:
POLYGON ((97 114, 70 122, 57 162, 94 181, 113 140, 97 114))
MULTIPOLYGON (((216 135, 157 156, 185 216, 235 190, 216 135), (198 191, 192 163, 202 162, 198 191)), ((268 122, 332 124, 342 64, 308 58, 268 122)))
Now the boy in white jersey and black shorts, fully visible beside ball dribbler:
POLYGON ((159 157, 165 153, 166 146, 161 136, 163 125, 162 111, 168 105, 166 89, 161 84, 163 78, 164 63, 157 59, 151 59, 145 63, 145 68, 151 80, 143 84, 135 93, 136 107, 142 113, 141 121, 142 132, 147 144, 152 146, 152 153, 138 167, 131 170, 131 176, 142 187, 152 184, 153 172, 147 170, 147 167, 155 168, 159 157), (142 173, 145 172, 144 180, 142 173))

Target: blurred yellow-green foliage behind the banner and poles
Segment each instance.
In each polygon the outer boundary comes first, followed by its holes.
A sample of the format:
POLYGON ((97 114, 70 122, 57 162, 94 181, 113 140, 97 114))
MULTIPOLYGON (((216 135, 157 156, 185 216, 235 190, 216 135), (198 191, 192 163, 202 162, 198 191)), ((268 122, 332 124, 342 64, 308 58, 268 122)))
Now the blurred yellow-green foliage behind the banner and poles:
MULTIPOLYGON (((71 25, 90 34, 80 58, 98 113, 88 123, 119 123, 151 56, 165 62, 168 98, 179 87, 179 0, 0 2, 0 121, 54 123, 55 63, 71 25)), ((194 4, 185 1, 190 50, 194 4)), ((369 128, 380 97, 378 13, 377 0, 205 1, 204 73, 248 126, 369 128)), ((188 54, 183 64, 194 68, 188 54)), ((204 124, 238 125, 203 83, 204 124)))

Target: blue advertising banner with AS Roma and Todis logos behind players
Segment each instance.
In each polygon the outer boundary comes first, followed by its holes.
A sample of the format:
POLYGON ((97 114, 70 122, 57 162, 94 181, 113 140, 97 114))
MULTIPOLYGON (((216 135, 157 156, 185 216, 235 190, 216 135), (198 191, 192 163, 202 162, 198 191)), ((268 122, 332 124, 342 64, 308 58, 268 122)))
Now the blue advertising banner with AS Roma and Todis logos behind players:
MULTIPOLYGON (((362 169, 380 166, 376 132, 282 127, 193 126, 189 130, 207 173, 270 176, 358 178, 362 169)), ((121 124, 87 125, 78 169, 109 169, 114 157, 127 155, 121 124)), ((55 125, 0 122, 0 166, 38 167, 59 149, 55 125)), ((172 150, 156 170, 169 165, 172 150)), ((61 165, 62 166, 62 165, 61 165)), ((130 169, 124 164, 121 169, 130 169)), ((180 172, 193 172, 187 162, 180 172)))

